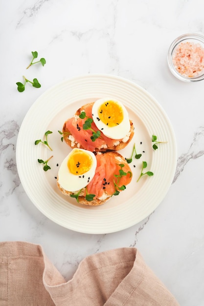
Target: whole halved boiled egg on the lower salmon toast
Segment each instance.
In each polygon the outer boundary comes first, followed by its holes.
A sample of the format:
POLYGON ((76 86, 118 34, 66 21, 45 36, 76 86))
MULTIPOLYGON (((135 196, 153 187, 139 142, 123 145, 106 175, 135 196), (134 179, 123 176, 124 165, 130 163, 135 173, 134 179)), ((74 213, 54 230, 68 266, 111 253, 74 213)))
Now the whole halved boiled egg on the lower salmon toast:
POLYGON ((74 192, 86 187, 95 174, 95 155, 84 149, 73 149, 63 160, 58 183, 67 191, 74 192))

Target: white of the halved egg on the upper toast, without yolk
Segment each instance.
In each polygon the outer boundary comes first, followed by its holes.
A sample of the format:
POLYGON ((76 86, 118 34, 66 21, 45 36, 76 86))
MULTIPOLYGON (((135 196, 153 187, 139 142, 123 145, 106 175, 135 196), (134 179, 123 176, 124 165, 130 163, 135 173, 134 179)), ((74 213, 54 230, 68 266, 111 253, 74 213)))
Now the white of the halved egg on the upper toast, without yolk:
MULTIPOLYGON (((111 114, 110 114, 111 116, 111 114)), ((130 120, 127 109, 124 107, 124 105, 117 101, 113 100, 111 98, 102 98, 99 100, 96 100, 92 106, 92 117, 93 121, 99 131, 101 131, 105 136, 111 138, 111 139, 122 139, 124 138, 128 132, 130 131, 130 120), (101 120, 99 120, 100 116, 100 107, 103 103, 107 101, 113 101, 118 106, 121 107, 123 111, 123 120, 121 123, 119 123, 116 126, 109 127, 107 124, 103 123, 101 120)))

